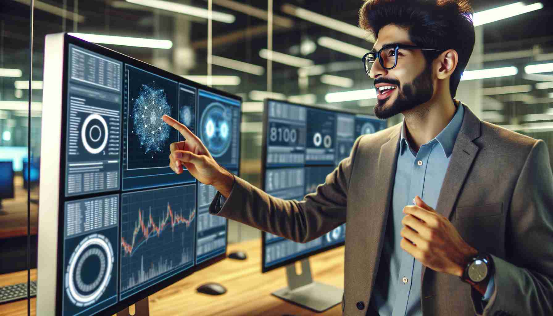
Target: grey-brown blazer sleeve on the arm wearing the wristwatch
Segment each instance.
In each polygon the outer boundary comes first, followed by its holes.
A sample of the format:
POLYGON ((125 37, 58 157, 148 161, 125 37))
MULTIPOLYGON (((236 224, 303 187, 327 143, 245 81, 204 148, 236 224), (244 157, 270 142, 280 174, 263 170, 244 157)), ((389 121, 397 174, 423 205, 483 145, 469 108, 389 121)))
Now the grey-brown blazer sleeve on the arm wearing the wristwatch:
MULTIPOLYGON (((492 256, 494 293, 478 315, 553 315, 553 175, 544 141, 531 149, 510 201, 507 260, 492 256)), ((480 309, 480 310, 478 310, 480 309)))

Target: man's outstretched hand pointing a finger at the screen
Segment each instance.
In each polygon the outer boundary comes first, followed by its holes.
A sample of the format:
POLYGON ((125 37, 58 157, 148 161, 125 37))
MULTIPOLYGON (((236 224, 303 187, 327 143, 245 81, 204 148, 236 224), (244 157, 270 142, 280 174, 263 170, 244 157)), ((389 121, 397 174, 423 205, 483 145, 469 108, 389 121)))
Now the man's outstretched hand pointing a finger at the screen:
POLYGON ((186 139, 182 142, 171 143, 169 146, 171 149, 169 167, 176 174, 181 174, 186 168, 194 178, 203 184, 213 185, 225 198, 228 198, 234 182, 232 174, 211 157, 200 138, 184 124, 168 115, 163 116, 163 121, 179 131, 186 139))

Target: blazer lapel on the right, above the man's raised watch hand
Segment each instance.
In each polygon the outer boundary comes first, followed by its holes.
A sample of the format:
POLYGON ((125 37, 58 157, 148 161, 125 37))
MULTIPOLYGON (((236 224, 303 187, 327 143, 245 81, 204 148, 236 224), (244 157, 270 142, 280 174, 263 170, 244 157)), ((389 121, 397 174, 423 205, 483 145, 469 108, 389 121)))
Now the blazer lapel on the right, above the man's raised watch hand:
MULTIPOLYGON (((436 211, 447 219, 450 219, 453 206, 461 193, 474 158, 476 158, 476 154, 480 149, 473 143, 473 140, 480 136, 481 122, 466 105, 462 104, 462 106, 465 106, 465 116, 463 117, 461 129, 457 134, 455 146, 453 146, 450 163, 447 166, 444 183, 442 183, 440 196, 436 204, 436 211)), ((425 271, 426 267, 422 266, 422 281, 424 281, 425 271)))

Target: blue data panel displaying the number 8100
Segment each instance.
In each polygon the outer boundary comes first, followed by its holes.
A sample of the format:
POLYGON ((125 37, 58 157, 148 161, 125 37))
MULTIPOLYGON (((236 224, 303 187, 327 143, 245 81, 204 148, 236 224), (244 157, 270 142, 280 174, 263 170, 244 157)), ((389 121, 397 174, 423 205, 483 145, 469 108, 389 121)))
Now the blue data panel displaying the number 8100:
POLYGON ((268 101, 267 114, 267 167, 304 165, 307 109, 268 101))

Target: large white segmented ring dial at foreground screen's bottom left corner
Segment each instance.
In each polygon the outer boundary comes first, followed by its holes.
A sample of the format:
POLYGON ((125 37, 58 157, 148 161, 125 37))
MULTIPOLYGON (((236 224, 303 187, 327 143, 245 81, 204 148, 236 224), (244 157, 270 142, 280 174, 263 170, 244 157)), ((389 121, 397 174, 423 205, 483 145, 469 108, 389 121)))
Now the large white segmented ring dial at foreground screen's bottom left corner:
POLYGON ((65 272, 65 292, 73 304, 85 307, 98 301, 113 270, 111 242, 100 234, 82 240, 73 251, 65 272))

